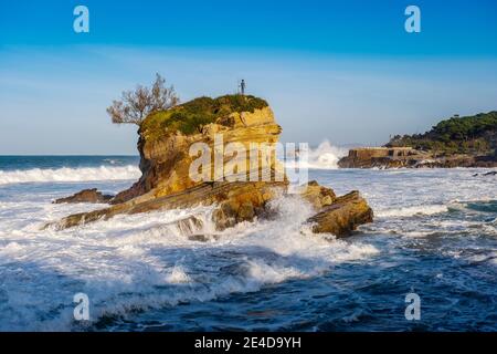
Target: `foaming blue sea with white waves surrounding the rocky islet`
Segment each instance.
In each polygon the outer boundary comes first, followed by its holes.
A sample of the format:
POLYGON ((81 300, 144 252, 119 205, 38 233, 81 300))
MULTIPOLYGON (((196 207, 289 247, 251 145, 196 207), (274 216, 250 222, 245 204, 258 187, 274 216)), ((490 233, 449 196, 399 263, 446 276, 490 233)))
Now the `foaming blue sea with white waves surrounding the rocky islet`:
POLYGON ((207 207, 43 229, 105 207, 52 201, 128 188, 136 156, 0 156, 0 331, 497 331, 495 169, 339 169, 340 154, 313 150, 309 179, 360 190, 374 222, 313 235, 287 196, 203 241, 170 222, 207 207))

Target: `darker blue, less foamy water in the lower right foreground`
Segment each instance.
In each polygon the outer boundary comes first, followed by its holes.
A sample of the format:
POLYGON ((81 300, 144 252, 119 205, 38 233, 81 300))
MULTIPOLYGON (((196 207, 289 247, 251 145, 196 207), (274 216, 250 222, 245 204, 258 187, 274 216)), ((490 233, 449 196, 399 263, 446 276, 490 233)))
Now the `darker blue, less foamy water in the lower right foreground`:
MULTIPOLYGON (((461 221, 462 218, 455 212, 438 219, 461 221)), ((479 221, 485 222, 485 217, 479 221)), ((419 222, 423 222, 422 218, 419 222)), ((421 240, 405 240, 395 233, 364 231, 347 240, 358 241, 372 244, 381 252, 364 261, 337 264, 322 277, 289 280, 257 292, 137 311, 127 317, 106 316, 93 330, 497 330, 495 236, 447 235, 434 230, 421 240), (451 250, 461 254, 454 258, 451 250), (405 294, 410 292, 421 298, 420 321, 405 319, 405 294)))

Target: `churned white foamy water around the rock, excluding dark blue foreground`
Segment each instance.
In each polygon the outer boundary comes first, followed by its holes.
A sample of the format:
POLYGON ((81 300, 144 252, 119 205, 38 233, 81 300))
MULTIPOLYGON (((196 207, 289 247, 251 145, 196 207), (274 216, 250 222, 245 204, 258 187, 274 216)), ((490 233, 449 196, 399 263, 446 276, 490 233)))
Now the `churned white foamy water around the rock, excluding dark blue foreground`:
MULTIPOLYGON (((336 269, 364 263, 363 271, 368 271, 374 261, 380 268, 392 262, 403 267, 413 262, 415 266, 410 267, 416 267, 421 263, 413 254, 404 259, 398 252, 420 242, 424 242, 420 246, 423 252, 440 254, 447 261, 489 260, 488 266, 493 267, 497 248, 480 242, 497 236, 496 215, 469 210, 468 204, 497 199, 497 183, 494 176, 473 177, 475 171, 478 170, 313 173, 311 178, 334 187, 337 194, 361 190, 374 209, 376 222, 361 228, 369 236, 348 240, 311 235, 302 227, 311 210, 295 197, 273 202, 278 210, 275 220, 241 223, 208 237, 207 242, 190 240, 170 222, 190 215, 208 220, 210 208, 118 216, 64 231, 41 230, 47 221, 96 207, 53 205, 51 200, 88 186, 116 192, 134 180, 4 184, 0 187, 0 330, 78 330, 72 303, 77 292, 88 294, 91 323, 95 323, 115 315, 133 321, 136 311, 154 313, 181 303, 205 303, 205 309, 212 310, 208 304, 213 300, 233 294, 255 296, 266 287, 290 280, 355 283, 363 274, 335 279, 336 269), (447 216, 458 209, 463 219, 447 216), (444 240, 432 246, 431 238, 440 233, 461 241, 444 240)), ((207 236, 212 232, 212 225, 207 222, 207 236)), ((417 277, 423 277, 422 267, 419 272, 417 277)), ((426 272, 431 277, 432 267, 426 272)), ((436 282, 447 281, 443 274, 437 270, 436 282)), ((372 280, 376 275, 371 277, 372 280)), ((457 275, 451 277, 447 279, 457 281, 457 275)), ((364 279, 357 281, 357 287, 361 287, 364 279)), ((405 282, 405 287, 411 281, 412 278, 395 279, 396 283, 405 282)), ((279 294, 274 296, 277 301, 279 294)), ((345 323, 352 317, 360 321, 361 316, 350 313, 343 316, 345 323)), ((171 321, 181 323, 180 317, 171 321)))

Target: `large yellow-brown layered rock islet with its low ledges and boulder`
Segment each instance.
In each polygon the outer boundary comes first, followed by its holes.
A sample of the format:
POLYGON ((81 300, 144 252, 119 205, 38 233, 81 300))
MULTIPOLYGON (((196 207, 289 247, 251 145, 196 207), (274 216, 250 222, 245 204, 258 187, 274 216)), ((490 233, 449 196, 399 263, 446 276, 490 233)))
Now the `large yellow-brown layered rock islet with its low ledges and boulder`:
MULTIPOLYGON (((193 180, 189 169, 195 156, 190 147, 204 143, 216 148, 215 135, 222 134, 222 147, 239 143, 247 149, 254 143, 274 144, 278 142, 282 127, 275 122, 268 104, 261 98, 245 95, 226 95, 218 98, 200 97, 172 108, 148 115, 139 127, 138 150, 140 154, 141 178, 129 189, 119 192, 108 201, 110 206, 91 212, 71 215, 47 225, 57 229, 76 227, 87 222, 109 219, 119 214, 139 214, 152 210, 214 206, 211 221, 215 229, 233 227, 241 221, 255 218, 271 218, 268 202, 288 194, 288 180, 229 181, 226 178, 213 181, 193 180)), ((248 158, 248 157, 247 157, 248 158)), ((229 160, 229 158, 228 158, 229 160)), ((228 162, 224 157, 224 163, 228 162)), ((214 162, 211 170, 215 176, 214 162)), ((248 160, 246 162, 248 166, 248 160)), ((271 162, 274 177, 281 163, 271 162)), ((256 174, 262 174, 256 167, 256 174)), ((284 169, 283 169, 284 170, 284 169)), ((253 169, 247 168, 247 174, 253 169)), ((96 190, 78 192, 57 202, 102 201, 96 190)), ((327 187, 310 181, 303 186, 299 198, 308 202, 315 215, 307 221, 314 232, 329 232, 337 237, 350 235, 358 226, 372 221, 372 210, 358 191, 337 197, 327 187)), ((191 216, 177 221, 188 236, 201 239, 204 221, 191 216)))

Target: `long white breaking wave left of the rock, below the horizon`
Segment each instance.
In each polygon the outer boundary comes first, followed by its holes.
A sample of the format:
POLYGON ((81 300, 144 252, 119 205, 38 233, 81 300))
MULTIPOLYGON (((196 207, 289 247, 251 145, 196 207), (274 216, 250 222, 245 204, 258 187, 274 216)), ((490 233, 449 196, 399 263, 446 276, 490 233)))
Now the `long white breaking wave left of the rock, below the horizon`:
POLYGON ((137 179, 141 175, 136 166, 99 166, 81 168, 32 168, 27 170, 0 170, 0 185, 137 179))

